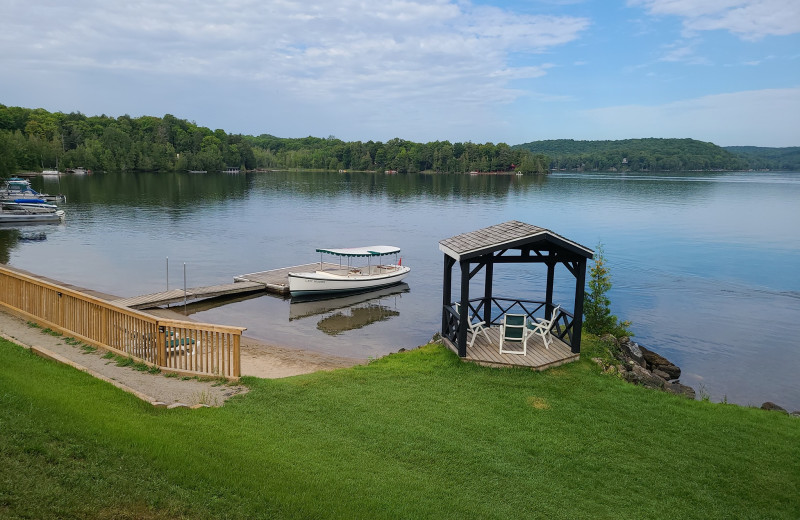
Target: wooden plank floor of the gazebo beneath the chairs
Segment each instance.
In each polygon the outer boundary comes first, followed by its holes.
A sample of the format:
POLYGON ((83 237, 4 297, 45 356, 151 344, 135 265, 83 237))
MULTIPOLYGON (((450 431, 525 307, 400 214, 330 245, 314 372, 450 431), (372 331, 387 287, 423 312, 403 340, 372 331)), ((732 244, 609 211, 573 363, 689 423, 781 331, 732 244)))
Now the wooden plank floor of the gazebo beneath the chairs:
MULTIPOLYGON (((486 334, 478 334, 475 344, 470 348, 469 341, 472 340, 472 333, 467 334, 467 356, 463 358, 465 361, 472 361, 480 365, 496 366, 496 367, 526 367, 531 370, 546 370, 548 368, 563 365, 577 361, 580 354, 574 354, 570 346, 553 337, 553 342, 550 348, 546 349, 542 338, 539 336, 531 336, 528 339, 528 353, 526 355, 520 354, 501 354, 500 353, 500 327, 490 327, 486 329, 486 334)), ((458 349, 448 339, 445 338, 445 344, 453 352, 458 353, 458 349)), ((522 349, 521 343, 507 342, 506 348, 516 350, 517 347, 522 349)))

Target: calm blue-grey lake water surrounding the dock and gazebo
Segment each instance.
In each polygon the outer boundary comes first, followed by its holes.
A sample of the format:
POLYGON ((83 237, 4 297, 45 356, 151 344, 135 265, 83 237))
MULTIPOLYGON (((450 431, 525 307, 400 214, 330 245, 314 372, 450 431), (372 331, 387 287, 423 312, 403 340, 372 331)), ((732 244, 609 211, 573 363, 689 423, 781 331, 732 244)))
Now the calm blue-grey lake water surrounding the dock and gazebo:
MULTIPOLYGON (((800 174, 99 174, 35 179, 67 222, 0 230, 0 260, 119 296, 228 283, 319 260, 316 247, 390 244, 407 287, 353 301, 274 296, 194 305, 204 322, 352 357, 425 343, 440 322, 442 238, 516 219, 594 248, 612 310, 712 400, 800 409, 800 174), (44 232, 45 240, 37 234, 44 232)), ((540 266, 496 268, 497 295, 538 298, 540 266), (520 289, 522 287, 523 289, 520 289)), ((569 300, 570 280, 556 287, 569 300)), ((574 282, 573 282, 574 283, 574 282)), ((570 303, 571 305, 571 303, 570 303)))

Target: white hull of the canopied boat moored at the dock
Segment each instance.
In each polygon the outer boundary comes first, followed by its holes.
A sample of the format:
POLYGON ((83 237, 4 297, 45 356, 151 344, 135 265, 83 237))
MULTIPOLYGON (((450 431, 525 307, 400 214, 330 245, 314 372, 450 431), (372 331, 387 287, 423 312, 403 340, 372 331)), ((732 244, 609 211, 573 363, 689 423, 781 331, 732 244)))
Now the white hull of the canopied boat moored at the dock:
POLYGON ((335 274, 325 271, 289 273, 289 291, 292 296, 323 293, 347 293, 386 287, 403 281, 411 269, 391 266, 380 274, 335 274))

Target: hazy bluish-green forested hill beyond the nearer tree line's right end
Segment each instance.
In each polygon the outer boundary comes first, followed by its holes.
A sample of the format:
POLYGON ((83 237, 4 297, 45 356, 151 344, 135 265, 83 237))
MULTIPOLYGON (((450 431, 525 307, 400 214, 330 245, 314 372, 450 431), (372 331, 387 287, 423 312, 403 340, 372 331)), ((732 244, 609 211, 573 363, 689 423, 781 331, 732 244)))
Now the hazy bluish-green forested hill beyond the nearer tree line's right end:
POLYGON ((551 169, 578 171, 741 170, 750 168, 740 155, 694 139, 624 139, 574 141, 556 139, 519 144, 550 157, 551 169))

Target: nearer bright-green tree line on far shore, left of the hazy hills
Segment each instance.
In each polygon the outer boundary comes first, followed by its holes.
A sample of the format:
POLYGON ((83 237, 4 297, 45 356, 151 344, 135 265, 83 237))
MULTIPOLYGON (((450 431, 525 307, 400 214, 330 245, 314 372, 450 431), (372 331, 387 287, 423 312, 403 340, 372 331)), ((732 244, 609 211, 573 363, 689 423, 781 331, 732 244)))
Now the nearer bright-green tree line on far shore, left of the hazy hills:
POLYGON ((253 169, 544 173, 550 159, 505 143, 345 142, 248 136, 163 117, 86 116, 0 104, 0 175, 45 167, 104 171, 253 169))

